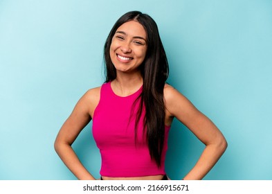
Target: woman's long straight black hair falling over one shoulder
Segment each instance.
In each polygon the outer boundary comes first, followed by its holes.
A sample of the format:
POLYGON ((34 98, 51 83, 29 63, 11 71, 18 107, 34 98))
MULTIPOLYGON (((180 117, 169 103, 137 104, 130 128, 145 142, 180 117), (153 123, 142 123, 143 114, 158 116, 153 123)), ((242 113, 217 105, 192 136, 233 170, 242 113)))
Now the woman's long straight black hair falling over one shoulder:
POLYGON ((139 96, 140 108, 138 109, 135 129, 137 129, 144 106, 144 125, 149 155, 156 161, 157 166, 161 166, 161 153, 165 136, 163 89, 168 77, 169 67, 161 37, 158 33, 158 26, 152 17, 139 11, 132 11, 125 13, 116 21, 104 46, 104 60, 107 69, 105 82, 116 78, 116 69, 111 62, 109 49, 116 30, 127 21, 138 21, 145 28, 147 34, 147 53, 145 60, 140 65, 140 72, 143 77, 143 91, 139 96))

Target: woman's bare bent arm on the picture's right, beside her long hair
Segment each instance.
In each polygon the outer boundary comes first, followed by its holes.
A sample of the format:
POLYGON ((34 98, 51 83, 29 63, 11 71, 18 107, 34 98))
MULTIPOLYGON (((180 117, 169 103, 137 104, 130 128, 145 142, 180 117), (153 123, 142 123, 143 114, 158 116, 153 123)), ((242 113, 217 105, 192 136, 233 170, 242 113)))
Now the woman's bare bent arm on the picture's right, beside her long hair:
POLYGON ((165 86, 165 107, 166 115, 176 117, 206 145, 195 166, 184 177, 184 179, 202 179, 223 155, 227 148, 226 139, 209 118, 169 85, 165 86))

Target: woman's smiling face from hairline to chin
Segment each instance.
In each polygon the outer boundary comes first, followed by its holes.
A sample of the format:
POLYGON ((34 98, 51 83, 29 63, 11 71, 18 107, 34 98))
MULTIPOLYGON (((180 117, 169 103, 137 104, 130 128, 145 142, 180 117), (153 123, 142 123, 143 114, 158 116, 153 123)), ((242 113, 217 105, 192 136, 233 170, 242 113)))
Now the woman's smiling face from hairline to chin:
POLYGON ((109 51, 116 72, 139 71, 147 52, 146 40, 145 28, 137 21, 127 21, 116 30, 109 51))

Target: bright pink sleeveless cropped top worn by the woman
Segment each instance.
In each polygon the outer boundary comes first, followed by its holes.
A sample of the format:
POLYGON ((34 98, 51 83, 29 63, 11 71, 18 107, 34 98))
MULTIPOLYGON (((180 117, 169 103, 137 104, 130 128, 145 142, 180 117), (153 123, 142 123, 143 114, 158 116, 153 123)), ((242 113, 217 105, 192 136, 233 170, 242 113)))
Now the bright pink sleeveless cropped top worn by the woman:
MULTIPOLYGON (((102 85, 100 101, 93 114, 93 138, 100 149, 100 175, 107 177, 143 177, 165 175, 165 155, 170 127, 165 126, 161 166, 151 159, 145 135, 143 114, 138 123, 135 142, 135 121, 142 87, 134 94, 121 97, 111 89, 111 82, 102 85)), ((144 109, 143 109, 144 110, 144 109)))

